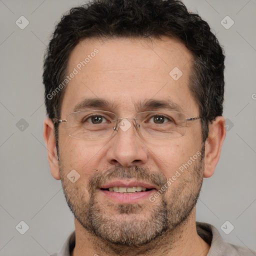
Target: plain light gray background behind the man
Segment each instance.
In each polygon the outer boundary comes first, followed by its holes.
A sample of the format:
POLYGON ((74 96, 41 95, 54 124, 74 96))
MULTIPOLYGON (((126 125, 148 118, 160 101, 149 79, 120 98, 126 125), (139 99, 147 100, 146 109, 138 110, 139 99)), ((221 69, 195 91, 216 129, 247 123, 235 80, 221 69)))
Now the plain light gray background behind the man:
MULTIPOLYGON (((60 181, 48 167, 41 74, 54 25, 81 2, 0 0, 0 255, 49 255, 74 228, 60 181), (15 24, 21 15, 29 21, 24 29, 15 24), (15 229, 21 220, 29 226, 24 234, 15 229)), ((204 179, 196 219, 215 225, 224 239, 256 249, 256 0, 184 3, 210 24, 226 54, 228 131, 215 173, 204 179), (221 24, 227 15, 234 21, 229 29, 221 24), (234 226, 229 234, 220 228, 226 220, 234 226)))

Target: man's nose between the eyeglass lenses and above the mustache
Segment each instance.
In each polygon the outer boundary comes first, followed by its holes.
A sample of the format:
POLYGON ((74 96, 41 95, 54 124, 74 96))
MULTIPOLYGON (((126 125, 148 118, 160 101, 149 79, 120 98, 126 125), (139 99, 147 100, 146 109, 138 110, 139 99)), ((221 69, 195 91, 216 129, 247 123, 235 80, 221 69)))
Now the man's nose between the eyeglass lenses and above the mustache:
POLYGON ((116 134, 109 142, 106 153, 110 164, 131 167, 147 161, 147 147, 136 131, 134 120, 122 118, 114 132, 116 134))

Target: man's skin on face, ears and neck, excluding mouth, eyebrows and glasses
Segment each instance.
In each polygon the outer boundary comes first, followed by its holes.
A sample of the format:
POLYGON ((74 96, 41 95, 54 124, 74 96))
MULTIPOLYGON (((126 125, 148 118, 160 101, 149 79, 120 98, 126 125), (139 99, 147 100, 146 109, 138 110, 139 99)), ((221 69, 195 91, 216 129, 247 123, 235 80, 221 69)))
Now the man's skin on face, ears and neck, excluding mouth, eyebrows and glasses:
MULTIPOLYGON (((71 52, 67 73, 95 48, 99 52, 65 88, 61 119, 78 102, 92 97, 111 102, 112 105, 101 109, 115 112, 118 117, 133 117, 143 111, 138 102, 147 99, 171 100, 186 117, 199 116, 198 104, 188 88, 192 55, 178 40, 166 36, 151 41, 84 39, 71 52), (173 67, 183 73, 178 80, 169 75, 173 67)), ((225 137, 222 116, 209 124, 205 143, 201 140, 200 120, 188 121, 182 137, 165 140, 143 138, 133 125, 126 131, 119 129, 111 138, 97 140, 72 138, 64 127, 63 123, 59 125, 59 157, 53 123, 48 118, 44 120, 43 136, 51 174, 61 179, 75 215, 73 256, 207 254, 209 245, 196 233, 194 204, 202 178, 213 174, 219 159, 225 137), (146 198, 134 204, 120 204, 96 189, 96 185, 113 177, 122 177, 124 181, 144 179, 160 189, 157 180, 163 184, 204 146, 202 157, 193 161, 154 202, 146 198), (74 183, 66 177, 72 169, 80 175, 74 183), (160 221, 160 216, 166 221, 160 221), (95 223, 99 226, 96 231, 95 223), (123 244, 118 241, 120 237, 125 240, 123 244)))

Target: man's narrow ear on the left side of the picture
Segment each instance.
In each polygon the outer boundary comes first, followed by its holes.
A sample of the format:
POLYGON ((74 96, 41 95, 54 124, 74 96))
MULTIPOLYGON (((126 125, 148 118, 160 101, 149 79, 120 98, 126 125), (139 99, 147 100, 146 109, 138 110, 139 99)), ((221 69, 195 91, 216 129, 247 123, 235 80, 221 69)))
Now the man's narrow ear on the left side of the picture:
POLYGON ((43 122, 43 138, 47 147, 51 175, 55 179, 60 179, 56 140, 54 136, 54 124, 50 118, 46 118, 43 122))

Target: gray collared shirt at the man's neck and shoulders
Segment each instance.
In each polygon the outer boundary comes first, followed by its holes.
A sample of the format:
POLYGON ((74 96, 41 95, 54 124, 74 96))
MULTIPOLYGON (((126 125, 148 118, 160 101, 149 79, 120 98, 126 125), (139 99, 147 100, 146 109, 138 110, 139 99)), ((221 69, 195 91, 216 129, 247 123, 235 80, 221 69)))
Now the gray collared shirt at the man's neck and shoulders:
MULTIPOLYGON (((208 223, 196 222, 198 235, 208 244, 210 249, 207 256, 256 256, 256 251, 226 242, 219 231, 208 223)), ((70 256, 75 245, 75 232, 73 231, 66 239, 59 252, 51 256, 70 256)))

